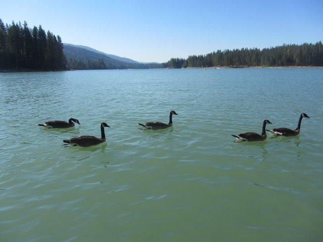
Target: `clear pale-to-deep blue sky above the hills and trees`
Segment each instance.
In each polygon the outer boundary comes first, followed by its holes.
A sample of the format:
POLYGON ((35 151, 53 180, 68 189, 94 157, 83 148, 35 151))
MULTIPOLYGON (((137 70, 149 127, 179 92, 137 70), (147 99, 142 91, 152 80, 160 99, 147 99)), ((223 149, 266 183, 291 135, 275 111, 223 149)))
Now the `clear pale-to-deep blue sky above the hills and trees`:
POLYGON ((322 0, 1 0, 0 18, 139 62, 323 41, 322 0))

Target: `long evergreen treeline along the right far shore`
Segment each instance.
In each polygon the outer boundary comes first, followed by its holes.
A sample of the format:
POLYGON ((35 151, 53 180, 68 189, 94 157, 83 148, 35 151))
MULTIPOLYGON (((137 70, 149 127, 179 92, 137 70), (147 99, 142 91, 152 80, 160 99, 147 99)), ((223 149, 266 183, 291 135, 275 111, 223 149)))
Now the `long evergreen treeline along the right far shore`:
POLYGON ((164 68, 255 67, 255 66, 323 66, 322 42, 301 45, 284 44, 271 48, 218 50, 206 55, 191 55, 187 59, 172 58, 164 68))

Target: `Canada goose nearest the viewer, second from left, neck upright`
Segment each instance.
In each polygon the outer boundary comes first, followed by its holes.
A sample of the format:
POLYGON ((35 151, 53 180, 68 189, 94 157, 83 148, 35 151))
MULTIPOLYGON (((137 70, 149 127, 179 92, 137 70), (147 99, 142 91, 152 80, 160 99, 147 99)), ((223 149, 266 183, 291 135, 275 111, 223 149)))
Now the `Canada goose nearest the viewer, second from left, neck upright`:
POLYGON ((71 138, 69 140, 63 140, 63 142, 71 144, 73 146, 88 147, 92 145, 97 145, 105 141, 104 127, 109 127, 106 123, 101 123, 101 138, 96 138, 94 136, 83 135, 76 138, 71 138))

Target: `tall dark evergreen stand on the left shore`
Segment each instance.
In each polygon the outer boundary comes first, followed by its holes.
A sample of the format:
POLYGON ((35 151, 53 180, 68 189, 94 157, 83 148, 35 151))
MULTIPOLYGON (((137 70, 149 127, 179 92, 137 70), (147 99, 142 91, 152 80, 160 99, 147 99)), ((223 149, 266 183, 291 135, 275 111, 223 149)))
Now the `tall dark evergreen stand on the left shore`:
POLYGON ((0 69, 61 70, 66 67, 61 37, 26 21, 4 25, 0 19, 0 69))

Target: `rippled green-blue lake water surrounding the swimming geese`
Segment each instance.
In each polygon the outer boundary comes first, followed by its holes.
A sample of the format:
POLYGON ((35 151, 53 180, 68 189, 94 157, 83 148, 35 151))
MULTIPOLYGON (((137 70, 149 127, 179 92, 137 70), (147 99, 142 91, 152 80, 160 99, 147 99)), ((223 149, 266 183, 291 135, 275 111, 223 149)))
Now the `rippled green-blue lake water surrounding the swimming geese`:
POLYGON ((323 69, 0 74, 0 240, 320 241, 322 94, 323 69), (231 136, 302 112, 297 137, 231 136), (63 145, 101 122, 106 143, 63 145))

